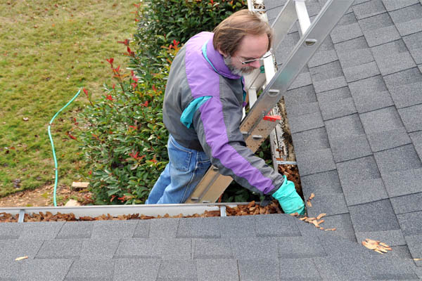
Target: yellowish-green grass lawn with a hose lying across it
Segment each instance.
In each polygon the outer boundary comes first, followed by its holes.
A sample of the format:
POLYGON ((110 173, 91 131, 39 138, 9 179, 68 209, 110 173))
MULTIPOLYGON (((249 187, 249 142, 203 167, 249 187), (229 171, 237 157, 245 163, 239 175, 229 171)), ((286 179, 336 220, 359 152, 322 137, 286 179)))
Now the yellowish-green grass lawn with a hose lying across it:
MULTIPOLYGON (((49 121, 79 87, 101 96, 111 81, 106 58, 127 65, 117 41, 136 30, 134 3, 0 1, 0 197, 53 183, 49 121)), ((51 126, 59 184, 87 174, 78 141, 67 134, 77 134, 73 118, 85 103, 81 93, 51 126)))

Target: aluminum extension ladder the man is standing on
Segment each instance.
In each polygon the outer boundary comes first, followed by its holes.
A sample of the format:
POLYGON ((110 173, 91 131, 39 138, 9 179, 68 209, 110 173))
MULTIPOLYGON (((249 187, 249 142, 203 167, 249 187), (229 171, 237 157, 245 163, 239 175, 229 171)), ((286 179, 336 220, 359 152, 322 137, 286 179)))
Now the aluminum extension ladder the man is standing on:
MULTIPOLYGON (((264 60, 265 74, 256 70, 245 77, 245 87, 249 94, 251 108, 241 122, 241 132, 246 145, 252 152, 260 147, 279 123, 278 118, 274 117, 272 113, 273 107, 279 103, 290 84, 293 83, 354 0, 328 0, 312 24, 305 1, 288 0, 271 25, 274 29, 273 49, 276 50, 296 20, 299 21, 302 36, 286 62, 276 72, 273 58, 269 57, 264 60), (263 91, 257 98, 257 92, 260 89, 263 91)), ((255 10, 250 0, 248 0, 248 8, 252 11, 255 10)), ((273 162, 276 164, 275 161, 273 162)), ((276 167, 276 165, 274 166, 276 167)), ((216 202, 231 181, 233 179, 230 176, 219 174, 217 167, 211 166, 186 203, 216 202)))

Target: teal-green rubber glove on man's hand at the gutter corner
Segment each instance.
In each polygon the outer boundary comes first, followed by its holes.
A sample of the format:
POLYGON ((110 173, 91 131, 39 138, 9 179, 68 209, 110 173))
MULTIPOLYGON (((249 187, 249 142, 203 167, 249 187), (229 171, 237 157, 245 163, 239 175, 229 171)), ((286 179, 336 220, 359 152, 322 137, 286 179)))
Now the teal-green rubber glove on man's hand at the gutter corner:
POLYGON ((286 214, 293 214, 296 212, 300 215, 305 214, 305 203, 298 195, 298 192, 296 192, 295 184, 288 181, 286 176, 283 177, 283 184, 279 190, 273 193, 272 197, 279 200, 280 206, 286 214))

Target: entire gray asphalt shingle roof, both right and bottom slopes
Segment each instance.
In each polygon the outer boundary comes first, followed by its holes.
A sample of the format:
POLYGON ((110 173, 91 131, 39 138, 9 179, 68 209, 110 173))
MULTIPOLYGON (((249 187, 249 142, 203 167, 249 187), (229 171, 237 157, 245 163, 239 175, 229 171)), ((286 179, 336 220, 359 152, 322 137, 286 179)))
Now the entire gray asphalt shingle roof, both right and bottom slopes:
MULTIPOLYGON (((265 1, 270 22, 285 2, 265 1)), ((0 280, 422 279, 421 23, 422 1, 355 1, 284 97, 307 212, 337 230, 286 214, 0 223, 0 280)))

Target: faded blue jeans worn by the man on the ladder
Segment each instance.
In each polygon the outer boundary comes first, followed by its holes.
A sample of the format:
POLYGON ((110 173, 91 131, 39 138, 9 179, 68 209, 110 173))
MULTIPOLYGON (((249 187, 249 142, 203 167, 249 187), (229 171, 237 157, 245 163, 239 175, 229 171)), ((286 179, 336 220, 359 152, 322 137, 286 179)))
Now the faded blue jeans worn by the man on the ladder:
POLYGON ((167 142, 170 162, 151 190, 145 204, 185 202, 210 167, 205 152, 184 148, 170 135, 167 142))

